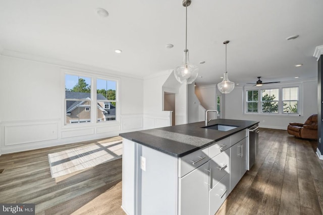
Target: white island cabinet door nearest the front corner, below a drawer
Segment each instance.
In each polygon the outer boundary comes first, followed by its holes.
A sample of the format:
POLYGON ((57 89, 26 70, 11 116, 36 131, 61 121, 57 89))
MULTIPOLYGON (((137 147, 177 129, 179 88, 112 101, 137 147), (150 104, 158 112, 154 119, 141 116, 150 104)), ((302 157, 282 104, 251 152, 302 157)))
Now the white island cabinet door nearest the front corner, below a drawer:
POLYGON ((208 214, 208 163, 180 178, 179 214, 208 214))

